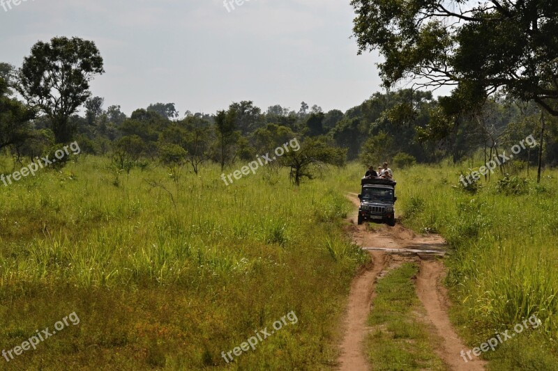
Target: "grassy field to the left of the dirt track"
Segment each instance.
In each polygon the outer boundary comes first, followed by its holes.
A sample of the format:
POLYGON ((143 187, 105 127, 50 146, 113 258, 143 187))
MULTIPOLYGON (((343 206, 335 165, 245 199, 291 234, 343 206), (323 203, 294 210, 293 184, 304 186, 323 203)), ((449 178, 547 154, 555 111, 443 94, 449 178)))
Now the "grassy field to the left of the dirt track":
MULTIPOLYGON (((129 177, 81 157, 0 187, 0 349, 80 319, 3 370, 317 370, 337 356, 349 282, 368 259, 325 181, 264 173, 229 187, 156 165, 129 177), (255 331, 280 331, 232 356, 255 331), (227 357, 225 355, 225 357, 227 357)), ((0 172, 11 172, 8 160, 0 172)))

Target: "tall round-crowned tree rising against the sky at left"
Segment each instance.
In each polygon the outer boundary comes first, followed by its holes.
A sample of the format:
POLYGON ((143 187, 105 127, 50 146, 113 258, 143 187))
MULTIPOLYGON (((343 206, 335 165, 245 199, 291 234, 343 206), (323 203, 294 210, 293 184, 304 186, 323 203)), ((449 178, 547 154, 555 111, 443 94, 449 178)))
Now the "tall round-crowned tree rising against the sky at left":
POLYGON ((57 143, 72 139, 68 118, 89 98, 89 82, 103 74, 103 58, 93 41, 56 37, 39 41, 24 58, 17 91, 51 120, 57 143))

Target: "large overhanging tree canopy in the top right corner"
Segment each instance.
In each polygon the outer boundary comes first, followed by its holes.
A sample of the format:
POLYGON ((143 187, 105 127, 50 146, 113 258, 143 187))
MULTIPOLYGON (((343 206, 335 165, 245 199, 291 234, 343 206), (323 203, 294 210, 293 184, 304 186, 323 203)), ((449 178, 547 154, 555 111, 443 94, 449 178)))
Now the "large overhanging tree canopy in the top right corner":
POLYGON ((379 50, 386 87, 455 85, 461 102, 504 89, 558 110, 555 0, 352 0, 359 54, 379 50))

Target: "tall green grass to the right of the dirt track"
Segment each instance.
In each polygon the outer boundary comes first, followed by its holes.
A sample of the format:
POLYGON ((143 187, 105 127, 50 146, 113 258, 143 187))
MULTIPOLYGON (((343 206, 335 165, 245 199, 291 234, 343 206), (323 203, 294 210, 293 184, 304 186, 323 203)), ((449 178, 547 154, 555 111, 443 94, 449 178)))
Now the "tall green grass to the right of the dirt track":
MULTIPOLYGON (((541 184, 533 177, 518 180, 525 184, 518 194, 502 189, 507 182, 499 182, 502 175, 492 175, 471 194, 458 187, 460 170, 439 165, 398 172, 402 220, 448 241, 446 282, 458 303, 456 324, 465 336, 483 342, 536 315, 543 326, 506 345, 502 358, 523 369, 531 365, 525 360, 536 358, 534 369, 552 369, 547 367, 557 358, 540 362, 548 349, 557 351, 558 171, 545 171, 541 184)), ((498 369, 496 364, 492 367, 498 369)))

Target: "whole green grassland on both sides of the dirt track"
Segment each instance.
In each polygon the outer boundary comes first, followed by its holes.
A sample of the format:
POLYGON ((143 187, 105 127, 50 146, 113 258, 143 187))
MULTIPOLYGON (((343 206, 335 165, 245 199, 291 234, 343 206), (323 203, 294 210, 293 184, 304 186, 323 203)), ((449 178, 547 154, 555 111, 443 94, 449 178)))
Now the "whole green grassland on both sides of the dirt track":
MULTIPOLYGON (((467 344, 536 315, 538 329, 485 357, 494 370, 552 370, 558 172, 540 185, 492 179, 471 194, 453 187, 458 167, 394 170, 402 222, 451 245, 452 316, 467 344)), ((0 173, 11 171, 0 159, 0 173)), ((2 368, 333 368, 349 282, 368 260, 342 232, 352 207, 344 194, 359 191, 362 173, 352 164, 297 189, 262 169, 225 187, 213 166, 198 177, 156 164, 128 176, 80 157, 0 184, 0 349, 70 313, 80 319, 36 350, 0 358, 2 368), (296 323, 226 363, 222 352, 287 313, 296 323)))

